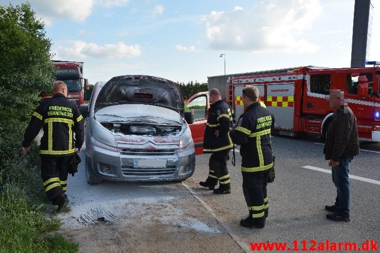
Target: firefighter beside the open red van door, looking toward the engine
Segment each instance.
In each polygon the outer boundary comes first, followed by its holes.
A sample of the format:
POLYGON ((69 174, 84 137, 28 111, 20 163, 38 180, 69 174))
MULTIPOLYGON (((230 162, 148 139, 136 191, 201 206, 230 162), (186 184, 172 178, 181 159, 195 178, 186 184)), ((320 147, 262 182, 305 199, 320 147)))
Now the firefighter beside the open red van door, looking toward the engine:
POLYGON ((228 134, 233 124, 233 112, 229 105, 222 100, 218 89, 210 91, 210 103, 203 140, 203 152, 212 154, 209 161, 208 178, 205 182, 200 182, 199 184, 211 190, 213 189, 216 194, 227 194, 231 193, 227 158, 230 149, 233 147, 232 140, 228 134), (218 181, 219 188, 214 189, 218 181))

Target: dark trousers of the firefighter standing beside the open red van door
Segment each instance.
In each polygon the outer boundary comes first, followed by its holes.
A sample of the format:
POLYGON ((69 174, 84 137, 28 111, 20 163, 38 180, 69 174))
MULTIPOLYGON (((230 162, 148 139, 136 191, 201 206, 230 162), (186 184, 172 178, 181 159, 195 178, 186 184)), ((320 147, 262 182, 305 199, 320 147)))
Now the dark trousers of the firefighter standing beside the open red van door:
POLYGON ((213 152, 209 161, 209 174, 207 180, 215 185, 219 181, 219 187, 222 189, 230 189, 230 179, 227 169, 228 150, 213 152))

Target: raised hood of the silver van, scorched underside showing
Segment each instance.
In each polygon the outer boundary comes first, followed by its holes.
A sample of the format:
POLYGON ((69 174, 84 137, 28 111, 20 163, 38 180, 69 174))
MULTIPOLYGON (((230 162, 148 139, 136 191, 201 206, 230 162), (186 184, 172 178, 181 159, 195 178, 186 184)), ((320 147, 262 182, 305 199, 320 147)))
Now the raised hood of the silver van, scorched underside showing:
POLYGON ((165 107, 184 116, 184 100, 176 83, 147 75, 115 76, 100 90, 95 112, 112 105, 147 104, 165 107))

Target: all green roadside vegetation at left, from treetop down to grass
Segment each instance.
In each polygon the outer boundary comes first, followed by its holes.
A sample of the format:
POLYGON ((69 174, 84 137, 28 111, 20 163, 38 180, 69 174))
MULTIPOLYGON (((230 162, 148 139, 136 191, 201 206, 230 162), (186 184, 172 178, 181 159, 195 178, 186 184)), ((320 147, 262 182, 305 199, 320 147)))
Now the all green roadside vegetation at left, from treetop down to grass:
POLYGON ((50 235, 60 222, 45 216, 49 206, 37 144, 25 157, 21 150, 39 93, 55 80, 50 46, 29 4, 0 6, 0 252, 78 250, 77 244, 50 235))

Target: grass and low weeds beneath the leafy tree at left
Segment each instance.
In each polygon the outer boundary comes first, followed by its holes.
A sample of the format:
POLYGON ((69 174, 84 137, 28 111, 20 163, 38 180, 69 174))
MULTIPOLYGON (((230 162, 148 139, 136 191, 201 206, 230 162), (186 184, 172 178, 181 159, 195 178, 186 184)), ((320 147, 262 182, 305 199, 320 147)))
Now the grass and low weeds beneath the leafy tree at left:
MULTIPOLYGON (((20 152, 20 151, 19 151, 20 152)), ((42 190, 37 147, 30 155, 3 160, 0 184, 0 252, 77 252, 78 245, 54 235, 61 222, 47 217, 51 208, 42 190)))

